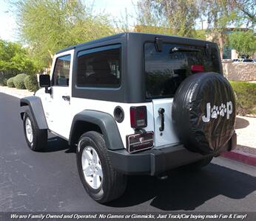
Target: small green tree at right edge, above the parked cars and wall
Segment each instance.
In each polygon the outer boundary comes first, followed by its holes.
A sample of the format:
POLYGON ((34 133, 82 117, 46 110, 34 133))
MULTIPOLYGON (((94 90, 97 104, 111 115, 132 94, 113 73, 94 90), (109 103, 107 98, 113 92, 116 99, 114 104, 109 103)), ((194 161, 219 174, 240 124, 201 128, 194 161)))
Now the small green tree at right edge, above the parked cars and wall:
POLYGON ((256 52, 256 36, 252 31, 233 32, 229 35, 229 45, 241 55, 253 55, 256 52))

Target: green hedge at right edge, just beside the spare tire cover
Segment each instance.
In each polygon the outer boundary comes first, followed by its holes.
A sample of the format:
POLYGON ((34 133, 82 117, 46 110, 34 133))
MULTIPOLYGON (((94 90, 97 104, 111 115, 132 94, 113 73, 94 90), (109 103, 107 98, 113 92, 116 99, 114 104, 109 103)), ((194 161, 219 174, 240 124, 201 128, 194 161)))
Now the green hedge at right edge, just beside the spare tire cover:
POLYGON ((230 81, 237 103, 239 115, 256 114, 256 84, 230 81))

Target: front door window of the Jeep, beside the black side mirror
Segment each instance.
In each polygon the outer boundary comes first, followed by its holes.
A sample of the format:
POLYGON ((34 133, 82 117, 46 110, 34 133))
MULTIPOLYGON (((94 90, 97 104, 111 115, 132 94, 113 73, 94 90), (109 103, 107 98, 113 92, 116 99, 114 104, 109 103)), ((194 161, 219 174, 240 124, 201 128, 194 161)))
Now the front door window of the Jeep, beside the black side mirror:
POLYGON ((53 71, 53 85, 68 86, 70 83, 71 55, 58 57, 53 71))

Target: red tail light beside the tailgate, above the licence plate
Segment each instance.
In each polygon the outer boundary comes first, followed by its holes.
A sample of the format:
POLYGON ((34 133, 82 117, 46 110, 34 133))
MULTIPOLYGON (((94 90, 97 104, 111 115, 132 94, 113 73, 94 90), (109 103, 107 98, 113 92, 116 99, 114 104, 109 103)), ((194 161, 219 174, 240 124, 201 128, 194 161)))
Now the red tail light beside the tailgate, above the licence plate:
POLYGON ((146 106, 131 107, 129 114, 132 128, 140 129, 147 126, 146 106))

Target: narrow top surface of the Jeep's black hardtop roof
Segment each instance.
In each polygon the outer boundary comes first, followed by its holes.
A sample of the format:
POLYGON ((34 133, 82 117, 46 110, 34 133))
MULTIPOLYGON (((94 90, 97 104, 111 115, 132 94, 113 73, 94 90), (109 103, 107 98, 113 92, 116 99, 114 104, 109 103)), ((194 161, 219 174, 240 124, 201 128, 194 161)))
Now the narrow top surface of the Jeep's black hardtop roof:
POLYGON ((89 46, 89 45, 92 45, 94 43, 101 43, 101 42, 104 42, 104 41, 110 41, 110 40, 113 40, 113 39, 116 39, 116 38, 125 38, 125 37, 127 37, 127 35, 149 35, 149 36, 164 37, 164 38, 168 38, 168 37, 183 38, 186 41, 187 40, 193 40, 193 41, 198 41, 198 42, 201 41, 201 42, 205 42, 205 43, 215 44, 211 41, 203 41, 203 40, 200 40, 200 39, 186 38, 186 37, 181 37, 181 36, 176 36, 176 35, 149 34, 149 33, 141 33, 141 32, 122 32, 122 33, 119 33, 119 34, 116 34, 116 35, 110 35, 110 36, 107 36, 107 37, 104 37, 104 38, 98 38, 96 40, 87 41, 87 42, 84 42, 84 43, 78 43, 74 46, 69 46, 65 49, 61 49, 56 54, 59 54, 61 52, 67 52, 69 50, 80 48, 80 47, 83 47, 83 46, 89 46))

